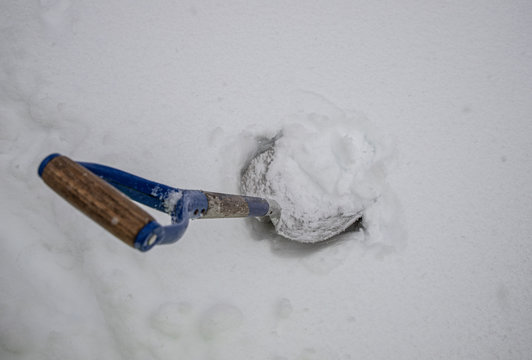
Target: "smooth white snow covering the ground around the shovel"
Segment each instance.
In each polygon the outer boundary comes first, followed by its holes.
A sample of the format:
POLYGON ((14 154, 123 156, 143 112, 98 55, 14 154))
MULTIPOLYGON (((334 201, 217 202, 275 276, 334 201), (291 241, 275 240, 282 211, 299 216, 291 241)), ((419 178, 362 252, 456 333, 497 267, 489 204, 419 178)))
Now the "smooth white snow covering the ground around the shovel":
POLYGON ((4 0, 0 28, 1 359, 532 357, 530 1, 4 0), (237 192, 300 94, 394 143, 377 233, 140 253, 37 176, 237 192))

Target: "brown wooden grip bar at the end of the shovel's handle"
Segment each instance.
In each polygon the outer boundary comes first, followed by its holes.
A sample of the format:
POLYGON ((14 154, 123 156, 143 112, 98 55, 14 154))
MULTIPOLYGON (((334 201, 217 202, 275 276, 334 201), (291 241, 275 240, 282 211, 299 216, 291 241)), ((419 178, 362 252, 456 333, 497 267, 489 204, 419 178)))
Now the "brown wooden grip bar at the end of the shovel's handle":
POLYGON ((66 201, 133 246, 139 232, 155 219, 120 191, 66 156, 41 165, 41 177, 66 201))

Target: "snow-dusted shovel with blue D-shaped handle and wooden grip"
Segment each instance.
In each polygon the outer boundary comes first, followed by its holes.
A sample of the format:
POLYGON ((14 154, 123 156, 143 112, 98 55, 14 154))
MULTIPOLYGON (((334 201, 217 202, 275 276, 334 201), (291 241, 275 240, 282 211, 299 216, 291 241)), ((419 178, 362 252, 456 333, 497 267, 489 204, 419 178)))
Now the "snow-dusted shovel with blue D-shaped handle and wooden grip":
MULTIPOLYGON (((248 186, 253 181, 265 181, 263 175, 254 178, 256 173, 249 169, 256 167, 257 162, 267 161, 264 159, 268 156, 264 154, 273 149, 272 145, 255 154, 243 170, 242 179, 248 186)), ((264 165, 267 169, 267 164, 264 165)), ((41 162, 38 173, 71 205, 140 251, 176 242, 185 233, 190 220, 257 217, 275 224, 282 214, 282 209, 272 199, 178 189, 109 166, 76 162, 60 154, 47 156, 41 162), (169 214, 171 224, 159 224, 131 200, 169 214)), ((319 228, 314 226, 304 230, 309 237, 326 240, 341 233, 359 218, 360 214, 339 214, 324 219, 319 228)))

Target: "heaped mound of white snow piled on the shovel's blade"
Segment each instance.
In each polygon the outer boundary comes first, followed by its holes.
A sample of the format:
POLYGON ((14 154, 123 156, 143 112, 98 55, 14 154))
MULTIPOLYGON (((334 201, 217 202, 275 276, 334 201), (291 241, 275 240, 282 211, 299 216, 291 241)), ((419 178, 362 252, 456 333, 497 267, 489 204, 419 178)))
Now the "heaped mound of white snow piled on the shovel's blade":
POLYGON ((364 215, 385 188, 390 150, 360 115, 343 111, 290 118, 244 170, 245 194, 275 200, 277 232, 326 240, 364 215))

